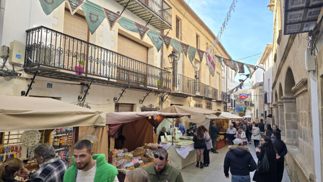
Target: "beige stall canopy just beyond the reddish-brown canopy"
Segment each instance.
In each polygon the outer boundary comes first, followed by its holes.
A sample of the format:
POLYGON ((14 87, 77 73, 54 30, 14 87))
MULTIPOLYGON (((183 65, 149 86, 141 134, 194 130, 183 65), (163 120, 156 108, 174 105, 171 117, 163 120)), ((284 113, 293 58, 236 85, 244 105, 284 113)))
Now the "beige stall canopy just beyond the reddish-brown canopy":
POLYGON ((205 122, 205 115, 210 115, 210 114, 216 114, 220 115, 221 112, 219 111, 212 111, 208 109, 201 109, 201 108, 191 108, 191 107, 186 107, 186 106, 177 106, 173 105, 170 107, 167 107, 165 109, 160 110, 160 112, 165 112, 165 113, 177 113, 177 114, 184 114, 184 113, 189 113, 191 114, 191 119, 185 118, 187 120, 190 120, 191 122, 197 123, 197 124, 204 124, 205 122))

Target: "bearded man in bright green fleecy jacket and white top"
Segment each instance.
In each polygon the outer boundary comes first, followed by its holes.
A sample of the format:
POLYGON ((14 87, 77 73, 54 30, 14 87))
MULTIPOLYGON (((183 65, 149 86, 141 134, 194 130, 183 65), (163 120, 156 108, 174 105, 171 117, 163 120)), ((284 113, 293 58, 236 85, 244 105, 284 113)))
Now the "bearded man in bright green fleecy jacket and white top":
POLYGON ((64 174, 64 182, 119 182, 116 167, 105 161, 104 154, 94 154, 89 140, 80 140, 74 145, 73 166, 64 174))

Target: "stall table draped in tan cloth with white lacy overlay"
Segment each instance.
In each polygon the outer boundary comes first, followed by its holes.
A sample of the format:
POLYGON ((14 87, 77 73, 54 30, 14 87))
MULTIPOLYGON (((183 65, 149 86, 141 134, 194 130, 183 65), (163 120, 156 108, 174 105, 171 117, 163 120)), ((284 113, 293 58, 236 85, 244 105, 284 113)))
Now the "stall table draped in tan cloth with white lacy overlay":
POLYGON ((181 170, 185 166, 188 166, 196 162, 196 151, 194 144, 189 146, 181 145, 180 148, 175 147, 175 144, 171 143, 162 144, 168 152, 168 159, 173 167, 181 170))

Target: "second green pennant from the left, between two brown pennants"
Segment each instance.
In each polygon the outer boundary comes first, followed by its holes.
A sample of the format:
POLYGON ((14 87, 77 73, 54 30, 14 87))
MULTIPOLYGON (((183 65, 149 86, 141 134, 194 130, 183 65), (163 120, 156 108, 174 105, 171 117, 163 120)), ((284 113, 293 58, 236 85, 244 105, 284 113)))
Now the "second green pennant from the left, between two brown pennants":
POLYGON ((104 20, 105 14, 99 5, 94 4, 90 1, 86 1, 82 6, 82 9, 85 15, 85 19, 87 20, 90 32, 91 34, 93 34, 99 27, 101 22, 104 20))

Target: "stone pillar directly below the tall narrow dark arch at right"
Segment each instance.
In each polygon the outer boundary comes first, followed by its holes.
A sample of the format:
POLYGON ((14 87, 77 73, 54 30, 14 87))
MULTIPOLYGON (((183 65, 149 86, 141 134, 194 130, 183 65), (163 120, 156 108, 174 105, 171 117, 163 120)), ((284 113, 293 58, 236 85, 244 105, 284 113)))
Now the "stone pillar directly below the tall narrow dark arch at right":
POLYGON ((284 103, 285 143, 298 146, 298 117, 296 99, 293 95, 282 96, 284 103))

